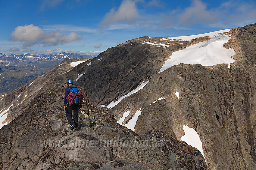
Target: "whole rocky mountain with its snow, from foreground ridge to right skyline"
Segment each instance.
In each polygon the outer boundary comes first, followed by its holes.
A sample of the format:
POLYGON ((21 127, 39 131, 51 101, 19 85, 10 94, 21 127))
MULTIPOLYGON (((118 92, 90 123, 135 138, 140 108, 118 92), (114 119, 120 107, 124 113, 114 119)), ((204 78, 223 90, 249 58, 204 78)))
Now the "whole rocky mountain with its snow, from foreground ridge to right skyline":
POLYGON ((256 169, 255 35, 139 37, 64 59, 0 94, 1 168, 256 169), (67 79, 85 94, 73 132, 67 79))

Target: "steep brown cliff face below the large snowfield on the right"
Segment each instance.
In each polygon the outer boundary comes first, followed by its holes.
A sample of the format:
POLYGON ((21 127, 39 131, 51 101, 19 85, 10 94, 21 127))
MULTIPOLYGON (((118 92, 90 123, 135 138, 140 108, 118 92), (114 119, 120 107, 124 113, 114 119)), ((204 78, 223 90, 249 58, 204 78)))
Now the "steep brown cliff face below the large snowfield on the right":
POLYGON ((135 126, 140 135, 161 130, 180 139, 188 124, 201 137, 209 169, 255 169, 255 24, 229 34, 224 46, 236 51, 230 68, 226 64, 170 67, 153 75, 112 112, 118 119, 133 111, 124 119, 126 124, 141 109, 135 126))

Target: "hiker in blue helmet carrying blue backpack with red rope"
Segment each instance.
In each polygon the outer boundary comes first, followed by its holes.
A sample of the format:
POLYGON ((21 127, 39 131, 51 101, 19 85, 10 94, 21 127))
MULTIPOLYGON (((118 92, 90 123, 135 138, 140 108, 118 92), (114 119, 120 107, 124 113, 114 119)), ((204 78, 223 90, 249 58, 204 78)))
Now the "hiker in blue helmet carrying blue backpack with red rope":
POLYGON ((66 117, 71 128, 78 129, 78 108, 82 107, 83 93, 79 92, 78 88, 73 86, 72 80, 67 80, 68 87, 65 89, 64 97, 64 110, 66 112, 66 117), (72 120, 72 111, 73 120, 72 120))

